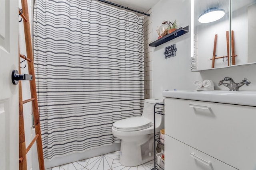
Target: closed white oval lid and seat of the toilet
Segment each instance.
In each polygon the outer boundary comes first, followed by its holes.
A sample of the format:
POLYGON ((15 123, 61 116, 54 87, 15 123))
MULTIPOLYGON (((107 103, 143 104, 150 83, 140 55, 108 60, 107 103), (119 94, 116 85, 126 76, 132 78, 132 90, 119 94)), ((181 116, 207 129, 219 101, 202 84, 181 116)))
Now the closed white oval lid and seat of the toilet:
POLYGON ((136 131, 150 127, 152 125, 150 119, 146 117, 130 117, 113 123, 113 127, 119 131, 136 131))

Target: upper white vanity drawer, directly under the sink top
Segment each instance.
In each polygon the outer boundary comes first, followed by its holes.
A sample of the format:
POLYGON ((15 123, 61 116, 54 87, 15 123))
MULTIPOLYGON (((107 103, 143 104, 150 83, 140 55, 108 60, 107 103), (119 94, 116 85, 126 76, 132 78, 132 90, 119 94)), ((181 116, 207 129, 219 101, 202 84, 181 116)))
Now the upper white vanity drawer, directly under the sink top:
POLYGON ((256 107, 166 98, 165 134, 237 169, 256 168, 256 107))

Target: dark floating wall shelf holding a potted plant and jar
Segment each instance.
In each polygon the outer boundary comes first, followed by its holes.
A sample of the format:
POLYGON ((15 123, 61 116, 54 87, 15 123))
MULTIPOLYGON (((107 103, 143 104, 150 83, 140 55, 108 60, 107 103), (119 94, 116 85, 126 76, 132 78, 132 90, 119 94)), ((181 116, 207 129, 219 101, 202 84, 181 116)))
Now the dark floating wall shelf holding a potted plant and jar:
POLYGON ((180 37, 180 35, 183 35, 188 32, 189 32, 189 25, 184 28, 180 27, 179 29, 176 29, 176 31, 173 31, 172 33, 169 33, 169 34, 165 35, 164 37, 150 43, 149 46, 157 47, 158 45, 166 43, 167 41, 170 41, 174 38, 180 37))

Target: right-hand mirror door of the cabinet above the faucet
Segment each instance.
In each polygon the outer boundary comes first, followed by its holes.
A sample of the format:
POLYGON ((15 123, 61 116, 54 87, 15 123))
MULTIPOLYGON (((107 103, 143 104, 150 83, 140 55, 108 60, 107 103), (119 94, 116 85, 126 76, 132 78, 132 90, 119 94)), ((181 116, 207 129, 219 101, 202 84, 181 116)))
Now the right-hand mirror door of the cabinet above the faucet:
POLYGON ((256 63, 256 0, 231 1, 231 30, 237 57, 231 66, 256 63))

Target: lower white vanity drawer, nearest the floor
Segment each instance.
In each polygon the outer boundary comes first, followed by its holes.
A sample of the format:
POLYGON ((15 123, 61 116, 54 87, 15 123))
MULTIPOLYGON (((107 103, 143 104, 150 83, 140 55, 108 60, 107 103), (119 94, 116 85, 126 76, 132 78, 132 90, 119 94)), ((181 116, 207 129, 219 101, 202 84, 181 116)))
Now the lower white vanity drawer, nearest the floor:
POLYGON ((166 170, 237 170, 166 135, 166 170))

